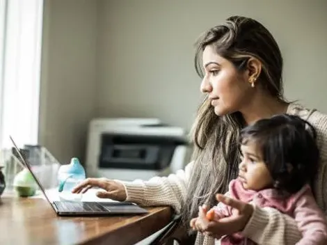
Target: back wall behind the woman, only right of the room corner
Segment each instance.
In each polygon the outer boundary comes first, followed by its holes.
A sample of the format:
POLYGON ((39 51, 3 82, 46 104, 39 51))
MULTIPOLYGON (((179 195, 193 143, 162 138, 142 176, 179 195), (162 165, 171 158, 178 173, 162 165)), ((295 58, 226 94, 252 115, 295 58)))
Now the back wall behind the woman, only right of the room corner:
POLYGON ((230 15, 276 37, 285 94, 327 112, 327 1, 99 1, 100 116, 156 116, 189 127, 199 102, 193 43, 230 15))

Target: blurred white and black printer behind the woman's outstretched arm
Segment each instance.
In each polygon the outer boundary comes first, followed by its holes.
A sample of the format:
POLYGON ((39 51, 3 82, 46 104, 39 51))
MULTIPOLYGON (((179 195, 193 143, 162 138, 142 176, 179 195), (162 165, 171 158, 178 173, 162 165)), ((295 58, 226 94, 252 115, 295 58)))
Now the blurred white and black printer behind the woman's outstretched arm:
POLYGON ((190 148, 184 129, 157 118, 97 118, 86 150, 88 177, 131 181, 184 168, 190 148))

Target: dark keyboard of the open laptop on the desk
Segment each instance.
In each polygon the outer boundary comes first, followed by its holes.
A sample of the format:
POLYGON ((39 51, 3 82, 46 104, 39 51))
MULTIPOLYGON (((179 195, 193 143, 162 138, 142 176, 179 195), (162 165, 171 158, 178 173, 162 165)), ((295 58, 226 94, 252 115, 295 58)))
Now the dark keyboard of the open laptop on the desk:
POLYGON ((109 212, 98 203, 54 201, 54 205, 61 212, 109 212))

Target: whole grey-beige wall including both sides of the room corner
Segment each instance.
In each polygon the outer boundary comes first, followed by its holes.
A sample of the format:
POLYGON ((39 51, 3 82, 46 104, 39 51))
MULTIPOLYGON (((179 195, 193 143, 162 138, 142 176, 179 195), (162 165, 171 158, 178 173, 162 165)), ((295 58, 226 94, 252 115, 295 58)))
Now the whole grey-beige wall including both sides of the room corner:
POLYGON ((189 128, 200 102, 196 38, 230 15, 276 37, 285 94, 327 113, 327 1, 46 0, 40 143, 83 157, 95 116, 159 117, 189 128))

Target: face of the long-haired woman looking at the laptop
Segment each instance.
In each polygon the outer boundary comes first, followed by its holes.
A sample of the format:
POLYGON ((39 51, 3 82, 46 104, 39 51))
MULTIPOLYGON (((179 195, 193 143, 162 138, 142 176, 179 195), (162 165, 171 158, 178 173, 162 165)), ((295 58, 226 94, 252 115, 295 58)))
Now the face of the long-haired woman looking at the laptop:
POLYGON ((207 93, 216 115, 241 111, 249 103, 254 90, 248 82, 248 72, 238 72, 211 45, 205 47, 202 60, 205 77, 200 89, 202 93, 207 93))

